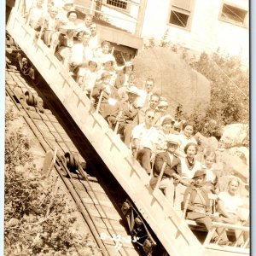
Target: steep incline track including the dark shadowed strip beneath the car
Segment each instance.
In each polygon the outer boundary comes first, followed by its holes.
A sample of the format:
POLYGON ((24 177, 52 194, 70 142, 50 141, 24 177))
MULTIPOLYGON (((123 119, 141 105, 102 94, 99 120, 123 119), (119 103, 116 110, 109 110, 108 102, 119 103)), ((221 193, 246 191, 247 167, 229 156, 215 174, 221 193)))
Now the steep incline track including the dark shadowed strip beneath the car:
POLYGON ((20 110, 44 151, 54 151, 57 148, 55 170, 79 206, 102 254, 139 255, 131 243, 131 236, 127 234, 122 224, 116 206, 116 203, 120 204, 123 201, 119 196, 121 194, 114 193, 114 190, 119 187, 118 184, 109 176, 108 185, 112 193, 104 187, 102 180, 106 182, 106 177, 109 175, 106 167, 95 152, 91 151, 89 143, 86 143, 84 136, 79 134, 78 129, 73 125, 67 113, 61 109, 49 88, 44 86, 44 82, 40 86, 40 91, 38 88, 32 88, 19 72, 8 68, 6 70, 6 92, 16 108, 20 110), (39 105, 38 107, 26 105, 24 98, 29 98, 28 95, 31 94, 44 99, 44 109, 38 108, 39 105), (55 111, 59 115, 55 115, 55 111), (81 165, 75 173, 69 172, 65 158, 63 158, 67 152, 76 156, 79 163, 84 162, 85 159, 88 163, 87 169, 90 169, 91 173, 102 172, 102 177, 99 177, 100 182, 96 177, 84 172, 81 165))

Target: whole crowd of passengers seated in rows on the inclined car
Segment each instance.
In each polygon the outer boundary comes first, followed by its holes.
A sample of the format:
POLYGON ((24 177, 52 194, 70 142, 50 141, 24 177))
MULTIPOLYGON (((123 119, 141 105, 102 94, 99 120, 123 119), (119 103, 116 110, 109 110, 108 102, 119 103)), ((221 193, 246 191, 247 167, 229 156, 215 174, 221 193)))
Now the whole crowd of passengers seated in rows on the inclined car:
MULTIPOLYGON (((245 223, 237 214, 244 204, 239 195, 241 180, 230 177, 226 189, 221 188, 215 152, 205 148, 198 160, 193 123, 177 125, 168 113, 169 102, 156 92, 154 79, 146 79, 143 89, 132 83, 133 63, 117 65, 113 48, 100 39, 92 15, 81 21, 70 0, 61 4, 37 0, 26 18, 140 162, 152 189, 163 171, 159 188, 177 211, 186 202, 186 218, 205 224, 207 230, 212 220, 245 223), (218 195, 218 216, 211 213, 208 193, 218 195)), ((221 231, 218 228, 212 240, 219 238, 218 244, 229 245, 221 231)), ((236 230, 238 246, 244 243, 240 233, 236 230)))

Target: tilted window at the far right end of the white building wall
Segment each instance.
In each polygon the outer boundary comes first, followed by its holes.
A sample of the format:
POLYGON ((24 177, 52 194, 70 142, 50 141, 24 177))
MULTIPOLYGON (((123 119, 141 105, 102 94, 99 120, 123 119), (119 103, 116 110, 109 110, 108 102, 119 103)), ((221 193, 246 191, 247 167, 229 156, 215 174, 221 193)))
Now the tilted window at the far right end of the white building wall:
POLYGON ((245 9, 224 3, 219 20, 230 22, 237 26, 247 26, 247 13, 248 11, 245 9))

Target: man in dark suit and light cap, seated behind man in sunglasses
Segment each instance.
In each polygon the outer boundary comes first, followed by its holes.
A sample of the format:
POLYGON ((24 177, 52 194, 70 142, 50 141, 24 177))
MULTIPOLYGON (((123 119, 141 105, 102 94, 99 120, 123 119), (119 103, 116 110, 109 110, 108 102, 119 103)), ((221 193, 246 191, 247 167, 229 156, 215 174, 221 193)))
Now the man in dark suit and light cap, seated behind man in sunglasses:
POLYGON ((134 104, 138 96, 137 87, 126 87, 126 95, 127 98, 118 104, 118 113, 121 114, 111 114, 109 117, 109 123, 114 126, 118 122, 118 133, 121 135, 121 138, 123 139, 127 148, 130 148, 131 131, 138 124, 136 118, 138 109, 134 104))

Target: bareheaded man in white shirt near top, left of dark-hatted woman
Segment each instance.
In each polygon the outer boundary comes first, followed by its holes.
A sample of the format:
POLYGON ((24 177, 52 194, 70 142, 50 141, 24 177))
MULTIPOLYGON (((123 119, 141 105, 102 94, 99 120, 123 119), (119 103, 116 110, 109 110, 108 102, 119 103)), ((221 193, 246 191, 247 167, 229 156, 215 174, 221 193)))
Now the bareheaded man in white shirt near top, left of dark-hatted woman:
POLYGON ((52 6, 49 8, 49 15, 45 17, 43 40, 44 44, 51 46, 52 49, 55 49, 55 40, 59 37, 58 30, 61 26, 61 20, 57 18, 57 15, 58 8, 52 6))

